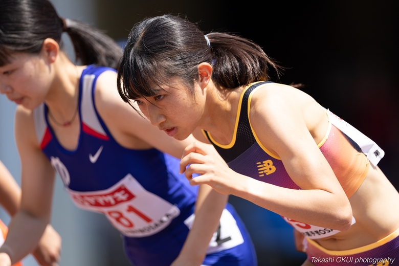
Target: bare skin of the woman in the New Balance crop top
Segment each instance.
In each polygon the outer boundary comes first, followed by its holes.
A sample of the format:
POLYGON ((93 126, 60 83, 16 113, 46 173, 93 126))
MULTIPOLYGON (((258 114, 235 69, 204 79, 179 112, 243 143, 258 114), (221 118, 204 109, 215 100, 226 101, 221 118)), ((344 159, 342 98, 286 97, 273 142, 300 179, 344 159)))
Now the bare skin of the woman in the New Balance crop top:
MULTIPOLYGON (((137 99, 140 110, 153 125, 166 129, 167 134, 172 132, 170 135, 176 139, 193 133, 196 139, 209 143, 201 132, 205 129, 218 143, 231 143, 243 88, 217 88, 211 73, 208 63, 198 65, 195 97, 188 93, 182 80, 173 78, 165 82, 173 85, 163 86, 156 96, 137 99)), ((201 142, 190 144, 181 161, 181 172, 192 185, 208 184, 220 193, 246 198, 280 215, 342 231, 317 239, 330 250, 368 245, 399 227, 399 207, 395 204, 399 194, 378 167, 369 168, 365 181, 348 200, 317 146, 325 136, 328 121, 312 97, 290 86, 269 84, 253 95, 250 120, 261 143, 282 159, 302 190, 277 187, 238 174, 214 149, 201 142), (201 175, 192 178, 193 173, 201 175), (352 214, 357 223, 350 226, 352 214)))

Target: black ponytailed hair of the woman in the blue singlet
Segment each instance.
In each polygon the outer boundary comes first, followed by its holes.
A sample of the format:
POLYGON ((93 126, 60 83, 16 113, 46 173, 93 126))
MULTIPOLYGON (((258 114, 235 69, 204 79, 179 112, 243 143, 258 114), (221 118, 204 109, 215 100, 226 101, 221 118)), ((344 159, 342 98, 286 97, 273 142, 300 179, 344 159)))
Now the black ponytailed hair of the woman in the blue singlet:
POLYGON ((80 63, 117 67, 122 50, 112 38, 59 17, 48 0, 0 0, 0 66, 10 62, 13 52, 38 54, 46 38, 60 43, 62 32, 70 36, 80 63))

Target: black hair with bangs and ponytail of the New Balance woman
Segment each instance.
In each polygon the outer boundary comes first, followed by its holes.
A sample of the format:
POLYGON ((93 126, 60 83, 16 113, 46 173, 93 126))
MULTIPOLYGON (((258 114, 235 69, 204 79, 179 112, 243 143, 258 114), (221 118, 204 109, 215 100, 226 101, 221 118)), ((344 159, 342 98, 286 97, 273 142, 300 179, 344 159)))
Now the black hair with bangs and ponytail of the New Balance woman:
MULTIPOLYGON (((190 21, 173 15, 147 18, 130 32, 118 69, 118 91, 129 102, 156 95, 155 86, 172 77, 187 88, 198 80, 198 64, 213 66, 216 86, 233 89, 268 80, 268 66, 279 66, 256 43, 237 35, 206 35, 190 21)), ((192 93, 192 91, 190 91, 192 93)))

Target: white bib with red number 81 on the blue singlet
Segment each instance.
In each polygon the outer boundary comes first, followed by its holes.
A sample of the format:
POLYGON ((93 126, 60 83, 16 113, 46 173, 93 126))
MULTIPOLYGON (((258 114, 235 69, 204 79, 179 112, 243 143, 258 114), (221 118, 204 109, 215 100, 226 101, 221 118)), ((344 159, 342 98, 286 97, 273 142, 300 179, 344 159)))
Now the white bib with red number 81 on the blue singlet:
POLYGON ((180 214, 178 207, 145 190, 131 174, 105 190, 66 190, 77 207, 105 214, 116 229, 130 237, 156 234, 180 214))

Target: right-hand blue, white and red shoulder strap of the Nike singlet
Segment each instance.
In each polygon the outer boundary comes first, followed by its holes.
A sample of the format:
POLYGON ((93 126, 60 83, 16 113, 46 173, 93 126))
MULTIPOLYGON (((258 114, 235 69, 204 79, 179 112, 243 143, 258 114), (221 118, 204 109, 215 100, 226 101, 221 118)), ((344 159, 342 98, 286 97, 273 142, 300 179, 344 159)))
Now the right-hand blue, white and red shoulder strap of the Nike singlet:
POLYGON ((80 100, 80 115, 82 120, 82 130, 89 135, 99 139, 108 140, 108 130, 103 125, 100 117, 97 114, 94 103, 94 93, 97 78, 101 73, 112 70, 112 68, 88 66, 82 73, 80 79, 81 100, 80 100))

